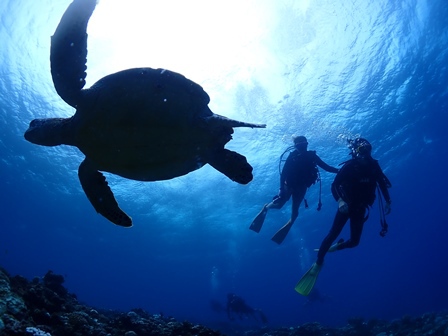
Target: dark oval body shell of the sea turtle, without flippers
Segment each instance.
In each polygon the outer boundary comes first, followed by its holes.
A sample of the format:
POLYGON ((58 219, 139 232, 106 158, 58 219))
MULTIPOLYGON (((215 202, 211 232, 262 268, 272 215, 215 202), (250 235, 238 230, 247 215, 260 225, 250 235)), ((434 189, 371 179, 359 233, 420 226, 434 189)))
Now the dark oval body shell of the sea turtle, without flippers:
POLYGON ((84 90, 72 119, 75 143, 98 170, 155 181, 184 175, 224 148, 231 127, 207 125, 202 87, 163 69, 106 76, 84 90))

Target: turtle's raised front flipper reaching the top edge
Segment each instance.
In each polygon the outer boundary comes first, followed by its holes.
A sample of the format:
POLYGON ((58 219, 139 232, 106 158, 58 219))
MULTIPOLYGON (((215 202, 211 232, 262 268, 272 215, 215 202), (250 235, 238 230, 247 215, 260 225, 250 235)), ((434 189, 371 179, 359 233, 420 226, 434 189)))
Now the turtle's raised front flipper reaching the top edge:
POLYGON ((75 107, 86 84, 87 23, 96 0, 74 0, 51 37, 51 75, 56 91, 75 107))

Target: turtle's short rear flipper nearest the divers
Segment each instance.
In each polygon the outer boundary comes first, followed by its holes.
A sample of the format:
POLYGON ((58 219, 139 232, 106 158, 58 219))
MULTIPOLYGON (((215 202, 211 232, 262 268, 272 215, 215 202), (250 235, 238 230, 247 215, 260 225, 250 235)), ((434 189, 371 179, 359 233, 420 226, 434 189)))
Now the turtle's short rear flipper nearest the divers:
POLYGON ((208 157, 207 162, 232 181, 241 184, 252 181, 252 166, 241 154, 223 148, 208 157))

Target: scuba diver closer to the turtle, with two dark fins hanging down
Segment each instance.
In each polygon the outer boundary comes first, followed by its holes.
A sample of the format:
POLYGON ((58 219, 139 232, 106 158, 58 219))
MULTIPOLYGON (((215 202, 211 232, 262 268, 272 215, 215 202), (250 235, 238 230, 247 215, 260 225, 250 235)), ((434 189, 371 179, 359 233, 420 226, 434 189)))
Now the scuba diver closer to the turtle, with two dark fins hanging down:
MULTIPOLYGON (((323 162, 315 151, 307 150, 308 141, 304 136, 294 137, 293 141, 294 146, 292 148, 294 148, 294 151, 289 154, 286 159, 285 166, 280 173, 280 191, 278 195, 274 197, 271 203, 263 206, 249 227, 249 229, 257 233, 260 232, 268 210, 281 209, 292 196, 291 218, 271 238, 277 244, 281 244, 283 242, 294 224, 294 221, 297 219, 297 216, 299 215, 299 206, 305 197, 306 190, 317 180, 320 180, 317 166, 330 173, 338 172, 337 168, 331 167, 323 162)), ((289 150, 290 148, 288 148, 283 155, 289 150)), ((280 163, 282 161, 282 157, 280 158, 280 163)), ((321 205, 319 196, 319 205, 317 210, 320 210, 321 205)), ((308 207, 306 199, 305 207, 308 207)))

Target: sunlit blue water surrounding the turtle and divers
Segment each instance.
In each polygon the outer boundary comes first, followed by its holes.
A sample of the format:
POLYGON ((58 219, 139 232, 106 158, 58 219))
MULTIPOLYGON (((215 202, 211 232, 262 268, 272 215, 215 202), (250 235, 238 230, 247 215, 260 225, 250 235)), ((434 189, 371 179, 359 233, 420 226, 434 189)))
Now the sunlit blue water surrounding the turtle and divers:
POLYGON ((268 125, 236 130, 227 146, 253 165, 247 186, 209 166, 154 183, 107 175, 131 229, 96 214, 77 149, 23 138, 33 118, 74 113, 49 68, 50 36, 69 3, 0 4, 2 267, 30 279, 63 274, 92 306, 212 326, 226 316, 209 302, 224 304, 228 292, 273 326, 448 308, 446 0, 103 0, 89 25, 88 85, 129 67, 166 67, 202 85, 215 113, 268 125), (150 12, 140 8, 147 3, 150 12), (278 159, 294 134, 331 165, 348 159, 344 139, 366 137, 393 184, 389 234, 378 234, 375 204, 361 244, 326 258, 316 286, 330 299, 311 305, 294 286, 331 226, 333 175, 322 173, 322 210, 314 186, 281 246, 270 237, 290 203, 269 212, 259 234, 248 229, 278 190, 278 159))

